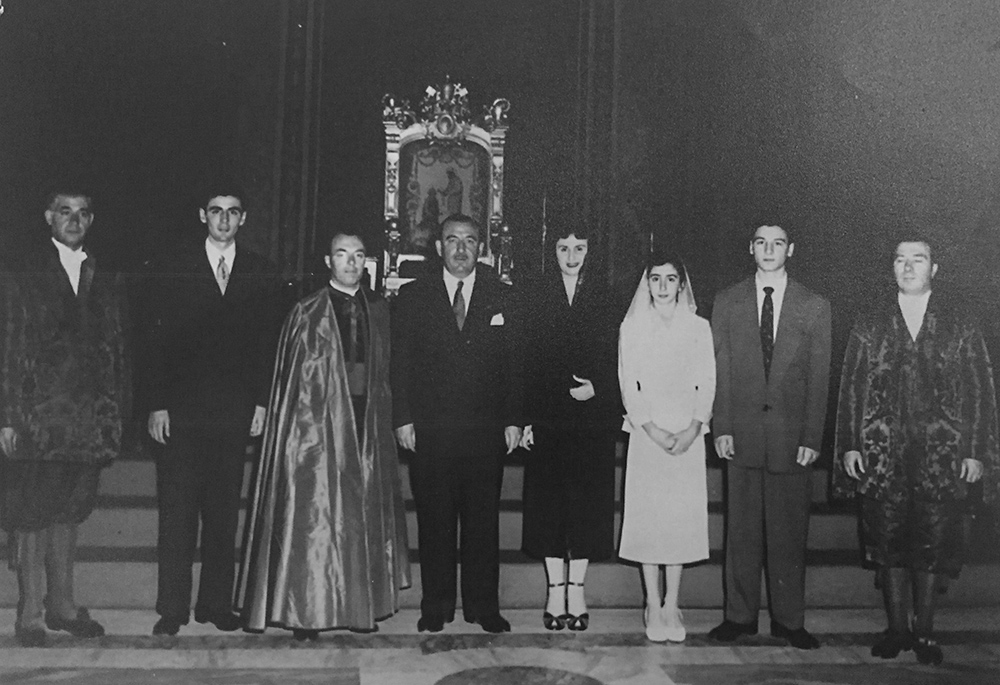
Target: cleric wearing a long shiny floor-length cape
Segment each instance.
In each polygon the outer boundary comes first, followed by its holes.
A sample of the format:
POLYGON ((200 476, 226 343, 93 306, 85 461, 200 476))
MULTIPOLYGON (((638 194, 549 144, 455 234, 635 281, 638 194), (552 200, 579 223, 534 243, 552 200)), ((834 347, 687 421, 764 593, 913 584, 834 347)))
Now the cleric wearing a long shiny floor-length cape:
POLYGON ((248 630, 377 630, 410 584, 389 390, 389 308, 338 233, 330 283, 278 345, 236 603, 248 630))

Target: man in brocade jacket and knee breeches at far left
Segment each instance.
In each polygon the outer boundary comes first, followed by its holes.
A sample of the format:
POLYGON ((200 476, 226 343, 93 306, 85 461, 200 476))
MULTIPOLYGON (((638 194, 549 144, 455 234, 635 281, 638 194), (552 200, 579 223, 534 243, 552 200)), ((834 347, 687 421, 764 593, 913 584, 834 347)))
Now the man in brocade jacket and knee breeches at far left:
POLYGON ((45 220, 51 241, 0 283, 0 524, 20 591, 15 635, 29 647, 46 628, 104 634, 73 599, 77 526, 120 451, 131 399, 124 289, 84 248, 90 196, 59 188, 45 220))

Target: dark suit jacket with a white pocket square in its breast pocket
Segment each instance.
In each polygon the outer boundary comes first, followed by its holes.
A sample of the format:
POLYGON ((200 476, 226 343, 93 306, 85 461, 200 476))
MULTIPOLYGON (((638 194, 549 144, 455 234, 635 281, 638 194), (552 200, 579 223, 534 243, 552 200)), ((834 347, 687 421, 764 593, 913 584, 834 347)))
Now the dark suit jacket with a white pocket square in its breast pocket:
POLYGON ((482 264, 458 329, 441 274, 400 288, 392 321, 393 425, 524 425, 518 312, 511 289, 482 264))

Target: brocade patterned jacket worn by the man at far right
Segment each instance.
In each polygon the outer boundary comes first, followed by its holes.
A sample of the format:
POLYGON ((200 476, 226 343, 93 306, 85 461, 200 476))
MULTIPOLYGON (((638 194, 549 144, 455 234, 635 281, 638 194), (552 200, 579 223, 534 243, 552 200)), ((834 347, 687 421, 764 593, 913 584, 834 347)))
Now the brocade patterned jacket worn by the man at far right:
POLYGON ((1000 447, 989 355, 975 320, 956 305, 932 293, 916 340, 895 297, 854 326, 840 384, 835 497, 894 499, 912 487, 919 499, 964 499, 962 461, 971 458, 984 466, 984 500, 996 500, 1000 447), (864 460, 860 481, 844 471, 851 450, 864 460))

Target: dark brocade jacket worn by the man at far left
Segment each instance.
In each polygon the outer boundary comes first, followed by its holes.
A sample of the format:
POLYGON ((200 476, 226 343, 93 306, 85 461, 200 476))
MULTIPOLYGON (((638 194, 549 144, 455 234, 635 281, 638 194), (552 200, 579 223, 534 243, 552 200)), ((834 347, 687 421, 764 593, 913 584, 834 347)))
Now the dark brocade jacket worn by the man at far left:
POLYGON ((73 292, 46 240, 4 286, 0 425, 15 459, 102 464, 121 449, 130 413, 129 317, 121 279, 93 253, 73 292))

